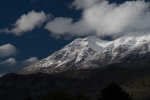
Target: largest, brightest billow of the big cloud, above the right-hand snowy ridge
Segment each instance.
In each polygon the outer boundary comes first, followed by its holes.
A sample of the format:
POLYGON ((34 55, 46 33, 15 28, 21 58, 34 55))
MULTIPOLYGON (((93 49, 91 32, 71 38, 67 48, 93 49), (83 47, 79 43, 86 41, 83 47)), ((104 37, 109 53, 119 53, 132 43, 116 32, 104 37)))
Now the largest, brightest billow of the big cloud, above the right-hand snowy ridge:
POLYGON ((103 1, 84 12, 84 21, 100 36, 146 30, 150 28, 149 4, 130 1, 116 5, 103 1))

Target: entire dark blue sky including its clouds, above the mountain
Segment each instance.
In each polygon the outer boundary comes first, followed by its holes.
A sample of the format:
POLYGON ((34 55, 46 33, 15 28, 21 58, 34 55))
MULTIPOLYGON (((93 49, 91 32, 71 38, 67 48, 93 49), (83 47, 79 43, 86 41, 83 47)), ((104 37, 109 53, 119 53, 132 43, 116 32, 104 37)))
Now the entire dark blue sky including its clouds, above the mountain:
POLYGON ((148 1, 1 0, 0 75, 17 72, 77 37, 110 40, 149 31, 148 1))

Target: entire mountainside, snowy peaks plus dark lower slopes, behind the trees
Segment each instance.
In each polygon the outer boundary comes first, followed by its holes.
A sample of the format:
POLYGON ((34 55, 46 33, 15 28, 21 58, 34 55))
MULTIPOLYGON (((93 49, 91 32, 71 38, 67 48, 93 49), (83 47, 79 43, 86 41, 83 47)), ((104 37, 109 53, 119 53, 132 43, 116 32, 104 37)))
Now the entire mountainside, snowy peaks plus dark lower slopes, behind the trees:
POLYGON ((127 34, 114 41, 78 38, 18 74, 0 78, 1 99, 20 100, 30 93, 33 100, 40 100, 61 88, 97 100, 106 85, 116 82, 133 100, 150 100, 150 33, 127 34))

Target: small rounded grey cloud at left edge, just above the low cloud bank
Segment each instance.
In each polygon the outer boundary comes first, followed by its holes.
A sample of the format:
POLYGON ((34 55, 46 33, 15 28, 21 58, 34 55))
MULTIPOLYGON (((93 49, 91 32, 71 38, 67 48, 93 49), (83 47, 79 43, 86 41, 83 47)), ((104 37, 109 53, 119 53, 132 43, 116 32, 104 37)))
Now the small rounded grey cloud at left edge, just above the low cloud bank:
POLYGON ((0 58, 15 55, 16 53, 17 53, 16 47, 11 44, 5 44, 0 46, 0 58))

